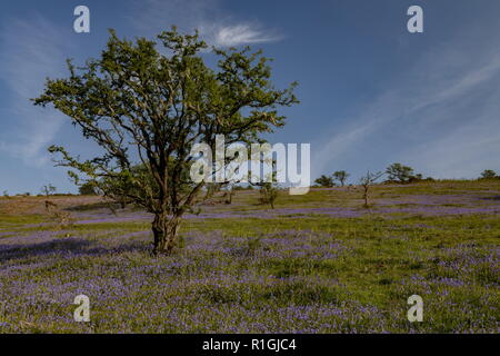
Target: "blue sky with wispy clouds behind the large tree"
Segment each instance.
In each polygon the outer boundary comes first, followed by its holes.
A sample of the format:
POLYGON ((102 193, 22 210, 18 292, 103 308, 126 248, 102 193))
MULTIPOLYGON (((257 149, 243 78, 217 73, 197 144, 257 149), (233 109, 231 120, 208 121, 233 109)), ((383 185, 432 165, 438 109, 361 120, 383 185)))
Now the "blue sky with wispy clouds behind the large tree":
POLYGON ((299 81, 299 106, 272 142, 310 142, 313 177, 400 161, 424 176, 474 178, 500 171, 498 0, 167 1, 52 0, 0 4, 0 191, 74 191, 47 147, 88 156, 93 145, 69 120, 33 107, 64 61, 97 57, 108 28, 153 36, 177 24, 216 46, 251 44, 274 58, 274 80, 299 81), (76 33, 86 4, 91 32, 76 33), (424 32, 407 31, 407 9, 424 32))

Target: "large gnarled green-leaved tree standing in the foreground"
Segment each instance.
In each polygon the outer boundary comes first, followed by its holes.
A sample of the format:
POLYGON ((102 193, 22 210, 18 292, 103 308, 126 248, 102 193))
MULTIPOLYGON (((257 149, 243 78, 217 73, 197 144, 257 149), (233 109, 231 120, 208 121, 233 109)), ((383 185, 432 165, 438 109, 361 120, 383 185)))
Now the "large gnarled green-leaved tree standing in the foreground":
POLYGON ((262 132, 284 125, 277 108, 298 102, 296 83, 274 89, 260 51, 213 49, 219 60, 211 69, 201 56, 206 48, 198 32, 174 27, 157 40, 129 41, 111 30, 99 59, 82 67, 69 60, 69 78, 48 79, 33 99, 67 115, 102 152, 80 160, 52 146, 58 165, 77 181, 101 185, 108 197, 127 196, 154 215, 157 255, 172 250, 182 215, 202 196, 206 182, 189 179, 191 147, 206 142, 214 151, 216 135, 224 135, 227 145, 263 142, 262 132))

